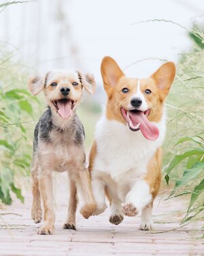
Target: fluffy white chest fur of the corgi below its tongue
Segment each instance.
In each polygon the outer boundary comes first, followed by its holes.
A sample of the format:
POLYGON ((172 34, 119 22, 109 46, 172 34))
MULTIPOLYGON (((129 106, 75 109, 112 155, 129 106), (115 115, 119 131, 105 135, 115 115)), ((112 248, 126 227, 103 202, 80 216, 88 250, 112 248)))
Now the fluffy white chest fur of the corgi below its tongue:
POLYGON ((97 172, 105 171, 118 181, 121 180, 121 175, 126 174, 129 177, 141 175, 146 171, 148 161, 163 142, 165 122, 157 126, 160 130, 158 139, 149 141, 143 137, 140 130, 133 132, 120 122, 109 121, 102 117, 97 124, 98 154, 93 169, 97 172))

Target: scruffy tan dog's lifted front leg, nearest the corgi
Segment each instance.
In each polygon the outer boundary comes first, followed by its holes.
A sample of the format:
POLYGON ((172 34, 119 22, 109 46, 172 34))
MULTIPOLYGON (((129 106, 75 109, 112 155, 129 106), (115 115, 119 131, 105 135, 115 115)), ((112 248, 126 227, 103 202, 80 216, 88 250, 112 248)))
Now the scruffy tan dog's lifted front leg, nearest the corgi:
POLYGON ((84 205, 80 209, 80 212, 84 218, 88 218, 96 208, 96 202, 92 195, 88 169, 84 168, 78 171, 77 184, 78 189, 81 190, 82 197, 84 197, 84 205))

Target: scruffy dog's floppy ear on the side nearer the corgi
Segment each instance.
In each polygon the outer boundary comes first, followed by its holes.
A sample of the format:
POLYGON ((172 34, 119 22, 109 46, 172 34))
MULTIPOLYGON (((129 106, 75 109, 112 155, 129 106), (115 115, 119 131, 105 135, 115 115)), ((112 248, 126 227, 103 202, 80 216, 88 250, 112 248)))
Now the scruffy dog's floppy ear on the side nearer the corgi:
POLYGON ((82 86, 88 93, 94 94, 95 89, 96 89, 96 82, 95 82, 95 77, 93 74, 83 74, 82 72, 78 71, 78 76, 80 79, 80 82, 82 83, 82 86))

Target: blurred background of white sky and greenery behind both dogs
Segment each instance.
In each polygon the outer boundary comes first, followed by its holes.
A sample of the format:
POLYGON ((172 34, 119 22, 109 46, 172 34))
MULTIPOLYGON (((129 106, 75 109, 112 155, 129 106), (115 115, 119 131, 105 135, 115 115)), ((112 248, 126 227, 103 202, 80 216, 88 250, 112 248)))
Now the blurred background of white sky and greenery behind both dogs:
MULTIPOLYGON (((97 92, 84 93, 78 109, 88 154, 105 104, 100 74, 105 55, 133 77, 150 76, 165 61, 177 64, 167 101, 163 170, 172 196, 194 195, 203 182, 203 165, 196 165, 203 163, 203 20, 203 0, 0 1, 1 200, 11 203, 16 194, 23 201, 29 180, 33 129, 45 107, 43 96, 29 94, 29 76, 52 68, 95 75, 97 92), (197 154, 182 156, 195 148, 197 154), (195 167, 197 175, 186 180, 185 170, 195 167)), ((201 188, 199 195, 204 182, 201 188)))

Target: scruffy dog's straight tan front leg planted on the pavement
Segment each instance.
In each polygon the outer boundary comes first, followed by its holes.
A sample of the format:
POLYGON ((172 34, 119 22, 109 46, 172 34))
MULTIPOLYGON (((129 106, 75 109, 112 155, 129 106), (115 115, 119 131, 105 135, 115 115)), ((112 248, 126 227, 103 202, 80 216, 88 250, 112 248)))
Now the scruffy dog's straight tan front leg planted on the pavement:
POLYGON ((54 233, 54 197, 52 193, 52 176, 44 175, 39 179, 39 191, 44 203, 44 225, 37 231, 39 235, 54 233))

